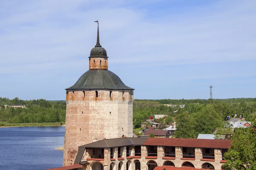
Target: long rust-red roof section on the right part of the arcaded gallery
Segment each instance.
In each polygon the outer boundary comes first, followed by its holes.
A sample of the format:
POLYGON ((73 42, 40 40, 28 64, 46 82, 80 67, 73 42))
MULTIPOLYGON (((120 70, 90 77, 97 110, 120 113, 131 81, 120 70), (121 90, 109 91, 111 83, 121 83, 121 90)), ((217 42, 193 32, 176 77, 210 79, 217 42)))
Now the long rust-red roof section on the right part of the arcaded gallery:
MULTIPOLYGON (((158 130, 147 130, 158 131, 158 130)), ((160 131, 160 130, 159 130, 160 131)), ((175 147, 204 147, 228 149, 231 147, 230 140, 224 139, 183 139, 183 138, 148 138, 143 145, 151 146, 175 146, 175 147)))

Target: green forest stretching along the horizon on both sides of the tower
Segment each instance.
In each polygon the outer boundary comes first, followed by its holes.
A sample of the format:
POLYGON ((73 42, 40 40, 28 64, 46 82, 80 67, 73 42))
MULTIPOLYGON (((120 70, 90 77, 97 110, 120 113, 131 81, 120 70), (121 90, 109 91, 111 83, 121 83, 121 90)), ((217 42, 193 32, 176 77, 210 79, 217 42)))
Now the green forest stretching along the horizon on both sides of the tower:
MULTIPOLYGON (((0 122, 65 122, 65 101, 0 97, 0 105, 0 122), (26 105, 26 108, 5 108, 4 105, 26 105)), ((134 100, 133 123, 135 128, 139 128, 141 122, 154 114, 165 114, 169 118, 175 117, 176 136, 194 138, 198 133, 212 133, 215 128, 224 127, 223 121, 227 116, 237 115, 239 117, 241 115, 246 121, 250 121, 256 115, 256 98, 213 99, 212 102, 209 99, 134 100), (180 108, 181 104, 185 104, 185 108, 180 108)), ((172 119, 169 119, 169 122, 171 121, 172 119)))

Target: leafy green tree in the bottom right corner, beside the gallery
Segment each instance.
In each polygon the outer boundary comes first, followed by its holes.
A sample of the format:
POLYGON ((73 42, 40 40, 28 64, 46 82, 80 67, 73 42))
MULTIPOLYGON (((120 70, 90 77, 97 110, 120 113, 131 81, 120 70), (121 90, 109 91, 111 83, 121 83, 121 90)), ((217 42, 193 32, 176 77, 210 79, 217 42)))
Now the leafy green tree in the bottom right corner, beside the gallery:
POLYGON ((226 170, 256 170, 256 130, 253 127, 236 128, 231 145, 224 154, 226 170))

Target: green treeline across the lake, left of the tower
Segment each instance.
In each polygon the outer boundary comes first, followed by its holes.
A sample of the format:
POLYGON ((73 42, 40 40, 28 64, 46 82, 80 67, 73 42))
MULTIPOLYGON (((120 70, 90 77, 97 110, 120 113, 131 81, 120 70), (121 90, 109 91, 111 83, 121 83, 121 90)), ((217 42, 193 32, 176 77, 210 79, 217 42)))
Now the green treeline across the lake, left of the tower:
POLYGON ((0 97, 0 122, 42 123, 65 122, 66 102, 45 99, 20 100, 0 97), (26 105, 26 108, 4 107, 4 105, 26 105))

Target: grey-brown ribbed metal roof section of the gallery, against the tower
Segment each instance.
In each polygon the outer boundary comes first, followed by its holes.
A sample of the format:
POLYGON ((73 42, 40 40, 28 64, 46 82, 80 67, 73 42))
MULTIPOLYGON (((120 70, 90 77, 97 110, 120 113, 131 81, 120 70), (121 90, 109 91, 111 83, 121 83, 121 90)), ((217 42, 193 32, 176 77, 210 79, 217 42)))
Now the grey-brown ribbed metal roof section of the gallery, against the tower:
POLYGON ((141 145, 146 139, 143 138, 116 138, 116 139, 103 139, 90 144, 85 144, 80 147, 85 148, 109 148, 109 147, 121 147, 130 145, 141 145))

